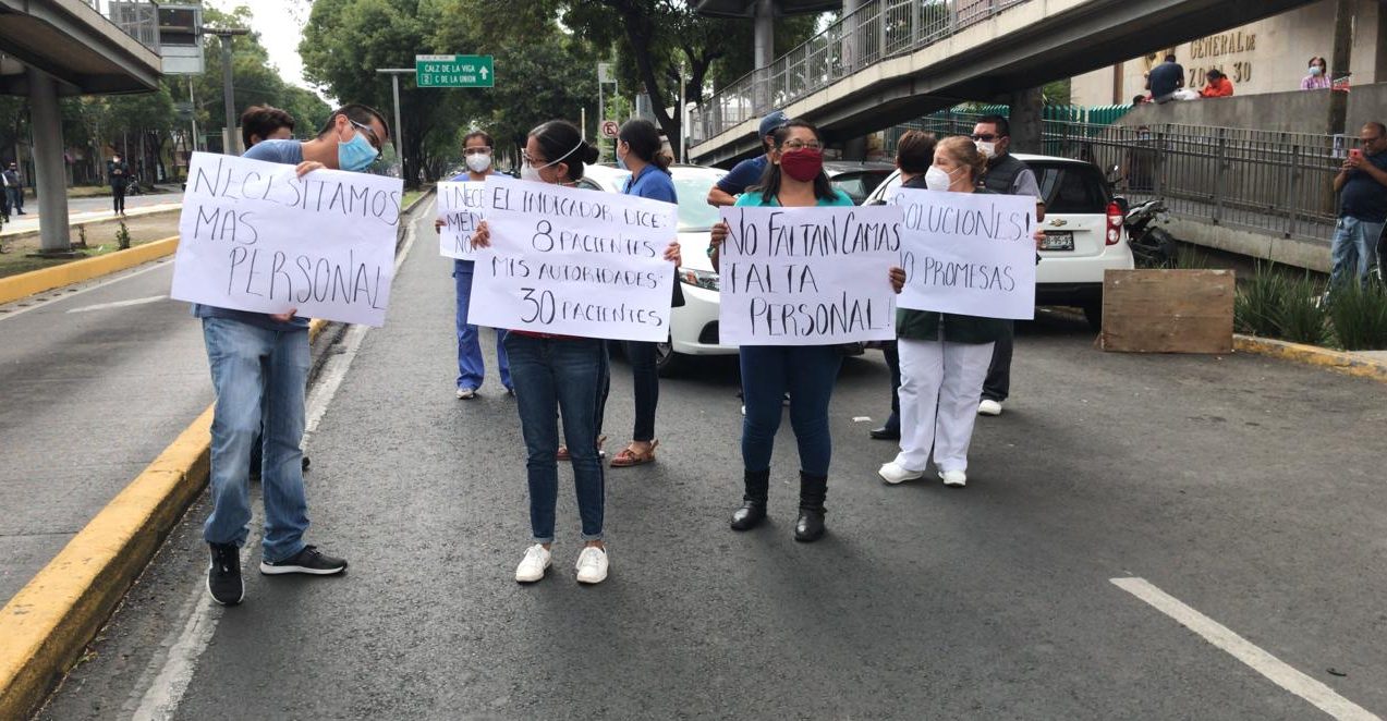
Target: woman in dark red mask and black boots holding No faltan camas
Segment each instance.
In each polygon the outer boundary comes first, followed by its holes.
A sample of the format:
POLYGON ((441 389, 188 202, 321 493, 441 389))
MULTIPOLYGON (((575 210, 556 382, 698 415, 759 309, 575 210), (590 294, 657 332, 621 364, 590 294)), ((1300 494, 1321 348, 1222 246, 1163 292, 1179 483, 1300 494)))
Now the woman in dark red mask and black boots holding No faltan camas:
MULTIPOLYGON (((802 119, 779 126, 766 175, 738 200, 738 207, 813 208, 853 205, 824 175, 824 146, 818 129, 802 119)), ((721 268, 721 247, 727 223, 713 226, 709 252, 713 268, 721 268)), ((900 293, 906 272, 892 268, 890 281, 900 293)), ((771 477, 771 453, 779 430, 782 401, 789 391, 789 422, 799 445, 799 519, 795 541, 813 542, 824 535, 824 499, 828 495, 828 464, 832 437, 828 430, 828 401, 838 380, 843 356, 836 345, 742 345, 742 507, 732 513, 732 530, 746 531, 766 520, 771 477)))

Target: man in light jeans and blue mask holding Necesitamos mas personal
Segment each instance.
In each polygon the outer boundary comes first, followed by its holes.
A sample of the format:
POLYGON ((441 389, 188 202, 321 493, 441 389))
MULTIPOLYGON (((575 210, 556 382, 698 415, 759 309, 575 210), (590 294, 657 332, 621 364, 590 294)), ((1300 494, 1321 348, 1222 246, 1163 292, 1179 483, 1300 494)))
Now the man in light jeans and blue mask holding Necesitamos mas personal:
MULTIPOLYGON (((386 118, 366 105, 333 111, 318 137, 266 140, 245 151, 247 158, 295 166, 300 176, 313 171, 365 171, 390 139, 386 118)), ((305 241, 311 241, 305 229, 305 241)), ((291 308, 283 313, 252 313, 194 305, 203 319, 203 338, 212 366, 216 408, 212 412, 212 513, 203 525, 212 563, 207 589, 212 600, 236 605, 244 598, 239 548, 251 520, 248 464, 251 445, 264 417, 265 532, 261 573, 330 575, 347 562, 304 544, 308 502, 304 496, 304 394, 308 381, 308 319, 291 308)))

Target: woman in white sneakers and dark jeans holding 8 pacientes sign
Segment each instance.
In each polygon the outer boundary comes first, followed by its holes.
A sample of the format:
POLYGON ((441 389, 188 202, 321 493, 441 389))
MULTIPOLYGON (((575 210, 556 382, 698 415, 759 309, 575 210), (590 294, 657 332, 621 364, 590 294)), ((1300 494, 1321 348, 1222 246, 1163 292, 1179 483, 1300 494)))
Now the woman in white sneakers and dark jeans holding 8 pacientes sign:
MULTIPOLYGON (((549 121, 530 132, 522 159, 523 179, 571 186, 583 179, 584 164, 598 159, 598 150, 583 140, 573 123, 549 121)), ((472 244, 474 248, 491 245, 485 220, 479 223, 472 244)), ((678 263, 677 243, 670 243, 664 258, 678 263)), ((608 553, 602 541, 606 501, 596 441, 608 384, 606 341, 512 329, 506 333, 505 347, 526 444, 530 527, 534 532, 533 545, 516 567, 516 581, 540 581, 551 564, 559 498, 558 416, 562 415, 583 519, 584 546, 576 566, 577 580, 581 584, 602 582, 608 575, 608 553)))

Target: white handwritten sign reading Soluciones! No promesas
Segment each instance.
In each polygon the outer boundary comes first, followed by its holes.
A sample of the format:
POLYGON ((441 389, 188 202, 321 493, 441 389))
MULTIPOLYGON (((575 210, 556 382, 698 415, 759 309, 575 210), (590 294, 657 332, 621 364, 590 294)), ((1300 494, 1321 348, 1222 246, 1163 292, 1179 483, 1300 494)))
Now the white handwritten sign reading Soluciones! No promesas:
POLYGON ((904 212, 900 306, 979 318, 1036 312, 1036 200, 899 189, 904 212))

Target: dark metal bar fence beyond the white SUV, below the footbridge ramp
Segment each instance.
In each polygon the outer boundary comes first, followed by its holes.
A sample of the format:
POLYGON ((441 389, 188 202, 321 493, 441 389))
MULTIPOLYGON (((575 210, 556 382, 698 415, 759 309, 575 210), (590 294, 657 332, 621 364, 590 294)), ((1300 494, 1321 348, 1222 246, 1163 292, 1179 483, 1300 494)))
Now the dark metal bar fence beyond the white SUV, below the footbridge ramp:
MULTIPOLYGON (((981 115, 935 114, 890 129, 886 146, 895 148, 907 129, 940 137, 971 134, 981 115)), ((1090 161, 1105 172, 1117 169, 1125 197, 1162 198, 1179 216, 1325 243, 1334 230, 1333 180, 1345 151, 1336 147, 1334 136, 1046 121, 1042 143, 1046 155, 1090 161)))

